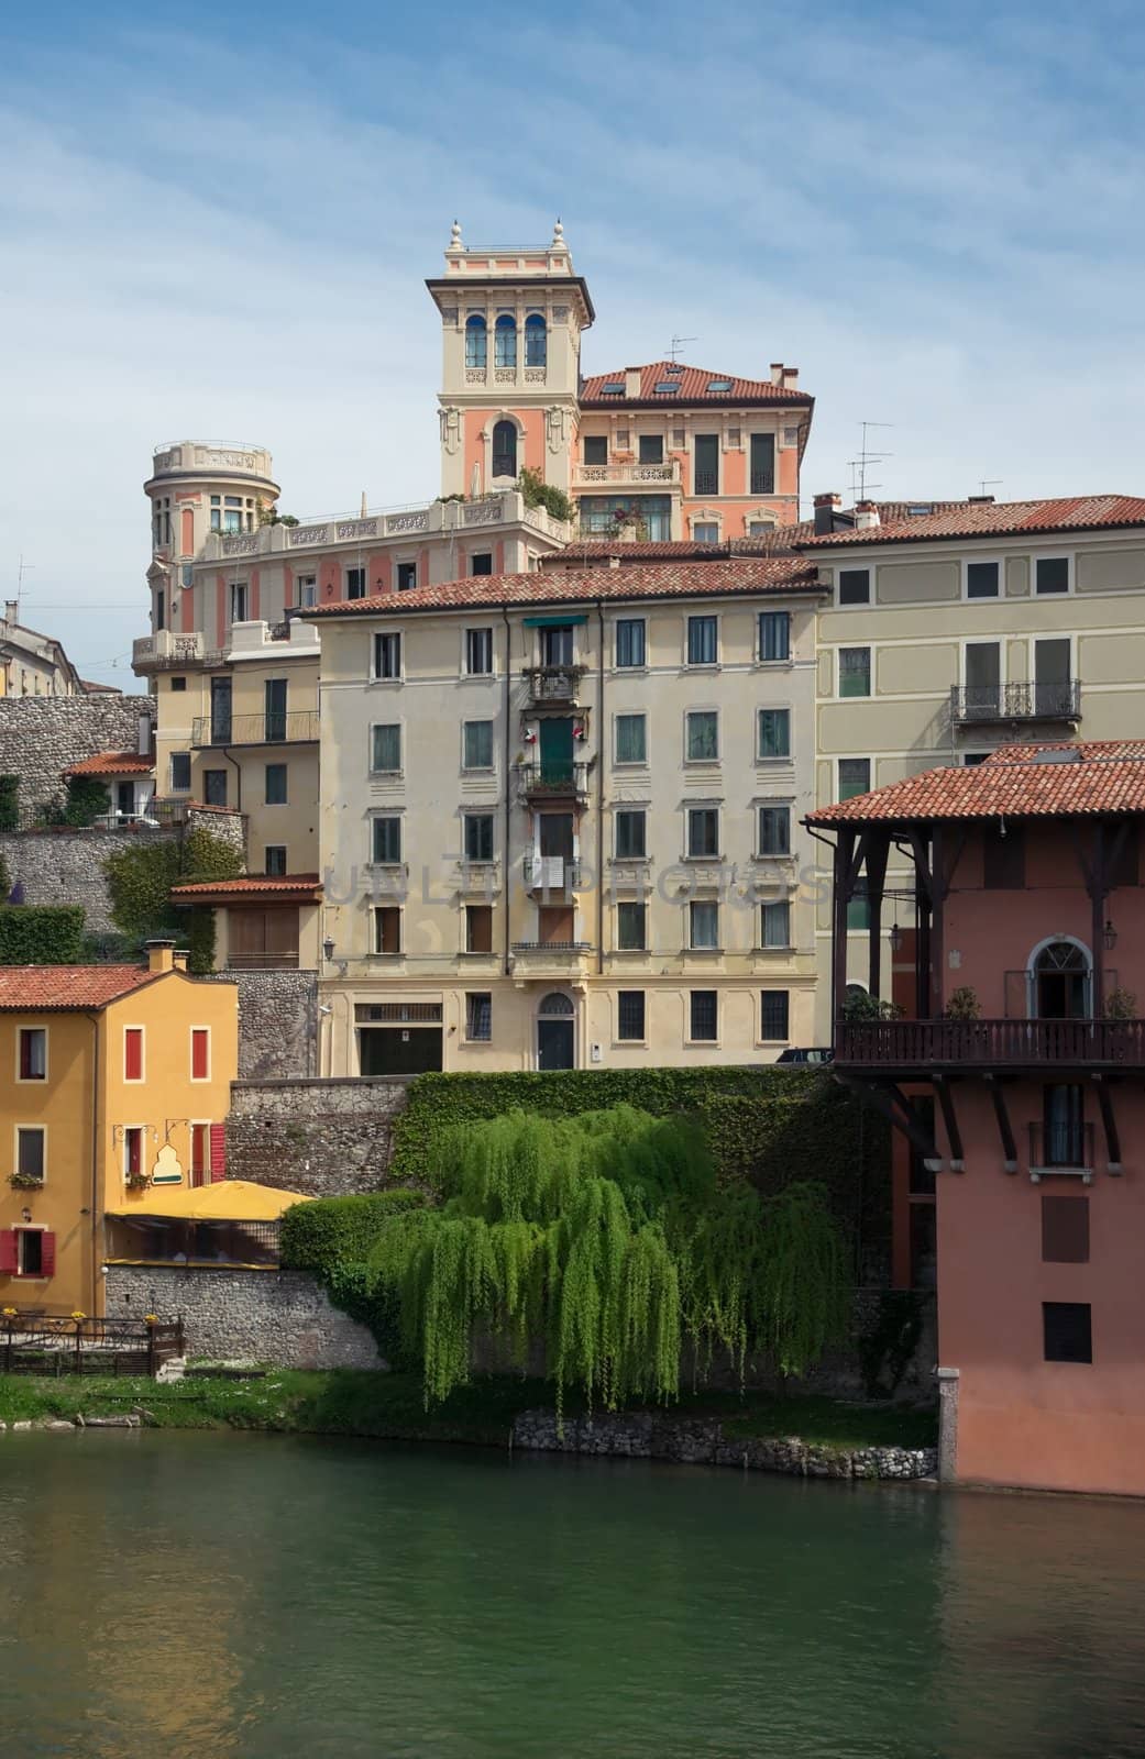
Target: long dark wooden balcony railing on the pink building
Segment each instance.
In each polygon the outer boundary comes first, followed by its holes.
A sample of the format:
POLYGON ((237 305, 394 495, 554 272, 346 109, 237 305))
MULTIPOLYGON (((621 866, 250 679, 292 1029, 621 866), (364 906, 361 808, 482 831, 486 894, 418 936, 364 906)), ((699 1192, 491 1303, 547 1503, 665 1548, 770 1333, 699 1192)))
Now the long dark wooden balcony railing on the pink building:
POLYGON ((835 1068, 901 1078, 1145 1069, 1145 1020, 844 1020, 835 1068))

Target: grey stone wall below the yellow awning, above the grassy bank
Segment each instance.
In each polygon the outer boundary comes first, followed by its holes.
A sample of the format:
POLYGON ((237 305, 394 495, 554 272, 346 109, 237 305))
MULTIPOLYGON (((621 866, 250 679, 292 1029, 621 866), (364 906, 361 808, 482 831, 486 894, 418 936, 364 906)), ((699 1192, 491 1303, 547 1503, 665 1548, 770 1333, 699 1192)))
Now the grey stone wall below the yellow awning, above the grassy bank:
POLYGON ((385 1369, 366 1326, 297 1270, 109 1265, 107 1317, 183 1319, 188 1356, 281 1369, 385 1369))

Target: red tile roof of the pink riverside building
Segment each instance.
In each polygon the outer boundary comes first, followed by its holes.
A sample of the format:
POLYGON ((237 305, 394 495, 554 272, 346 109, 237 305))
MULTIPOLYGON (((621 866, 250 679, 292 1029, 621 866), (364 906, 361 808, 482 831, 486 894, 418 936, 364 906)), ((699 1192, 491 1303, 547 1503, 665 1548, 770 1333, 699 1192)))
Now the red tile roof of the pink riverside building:
POLYGON ((925 770, 809 813, 813 825, 872 820, 1071 818, 1145 813, 1145 741, 1004 746, 985 763, 925 770))

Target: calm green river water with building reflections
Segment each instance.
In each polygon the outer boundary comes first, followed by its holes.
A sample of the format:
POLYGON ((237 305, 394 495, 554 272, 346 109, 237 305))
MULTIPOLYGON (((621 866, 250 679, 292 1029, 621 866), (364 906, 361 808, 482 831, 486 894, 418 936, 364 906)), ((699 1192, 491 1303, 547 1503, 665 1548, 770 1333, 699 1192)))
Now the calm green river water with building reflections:
POLYGON ((0 1437, 4 1759, 1141 1759, 1145 1507, 0 1437))

